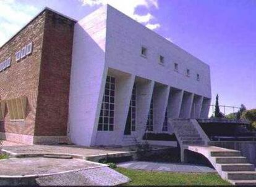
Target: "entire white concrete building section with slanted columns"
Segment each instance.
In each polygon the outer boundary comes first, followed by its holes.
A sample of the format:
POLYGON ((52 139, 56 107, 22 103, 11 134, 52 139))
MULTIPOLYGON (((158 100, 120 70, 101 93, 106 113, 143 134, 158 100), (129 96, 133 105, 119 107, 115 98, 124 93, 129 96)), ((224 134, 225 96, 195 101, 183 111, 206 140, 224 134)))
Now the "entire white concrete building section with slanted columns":
MULTIPOLYGON (((126 145, 124 137, 140 141, 151 100, 156 133, 162 132, 166 107, 169 118, 207 117, 210 67, 111 6, 103 6, 77 22, 70 81, 70 140, 85 146, 126 145), (142 47, 147 49, 146 56, 142 47), (115 78, 114 124, 113 130, 99 130, 107 76, 115 78), (129 105, 134 85, 136 111, 131 120, 135 130, 124 135, 127 116, 132 116, 129 105)), ((110 123, 111 116, 108 120, 110 123)), ((168 133, 170 128, 168 125, 168 133)))

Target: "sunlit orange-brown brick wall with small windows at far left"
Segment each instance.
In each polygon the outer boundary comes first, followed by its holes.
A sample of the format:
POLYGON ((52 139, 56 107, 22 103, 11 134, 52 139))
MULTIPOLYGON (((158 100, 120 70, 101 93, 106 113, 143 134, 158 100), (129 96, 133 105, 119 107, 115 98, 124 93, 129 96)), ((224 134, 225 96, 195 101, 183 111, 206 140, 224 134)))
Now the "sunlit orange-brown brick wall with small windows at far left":
POLYGON ((23 135, 34 133, 44 25, 43 12, 0 48, 0 62, 11 57, 11 67, 0 73, 0 100, 21 96, 28 98, 25 121, 10 121, 6 107, 4 121, 0 121, 0 132, 23 135), (29 42, 33 42, 33 53, 19 63, 15 62, 15 52, 29 42))

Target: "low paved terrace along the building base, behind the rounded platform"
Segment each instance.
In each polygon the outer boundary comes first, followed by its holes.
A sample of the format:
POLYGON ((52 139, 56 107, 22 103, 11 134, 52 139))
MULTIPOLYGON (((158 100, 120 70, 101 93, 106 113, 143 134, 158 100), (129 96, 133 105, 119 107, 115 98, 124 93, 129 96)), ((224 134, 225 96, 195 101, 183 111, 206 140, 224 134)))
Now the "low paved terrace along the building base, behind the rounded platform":
MULTIPOLYGON (((152 153, 168 150, 168 146, 151 146, 152 153)), ((14 157, 35 157, 43 156, 44 154, 62 154, 69 155, 88 161, 99 161, 108 157, 124 157, 132 156, 136 159, 135 146, 124 146, 122 148, 111 147, 85 147, 76 145, 22 145, 22 146, 4 146, 2 152, 10 154, 14 157)))

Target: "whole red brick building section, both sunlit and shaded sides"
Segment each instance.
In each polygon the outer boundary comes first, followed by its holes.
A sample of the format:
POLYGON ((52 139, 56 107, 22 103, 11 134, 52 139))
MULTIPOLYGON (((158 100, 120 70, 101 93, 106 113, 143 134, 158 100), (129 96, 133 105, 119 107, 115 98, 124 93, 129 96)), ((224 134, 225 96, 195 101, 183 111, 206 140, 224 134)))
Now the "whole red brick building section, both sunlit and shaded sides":
POLYGON ((27 97, 25 120, 12 121, 6 107, 0 138, 25 144, 66 141, 74 20, 45 9, 0 48, 0 101, 27 97), (15 62, 28 43, 33 52, 15 62))

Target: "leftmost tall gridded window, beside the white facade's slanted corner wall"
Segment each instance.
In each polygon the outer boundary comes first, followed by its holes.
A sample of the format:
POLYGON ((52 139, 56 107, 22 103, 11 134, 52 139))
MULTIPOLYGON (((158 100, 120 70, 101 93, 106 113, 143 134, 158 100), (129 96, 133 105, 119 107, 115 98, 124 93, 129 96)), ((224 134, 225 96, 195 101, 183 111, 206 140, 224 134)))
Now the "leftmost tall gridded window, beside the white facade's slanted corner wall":
POLYGON ((107 76, 105 93, 101 105, 100 118, 98 122, 99 131, 113 131, 114 130, 114 91, 116 79, 107 76))

